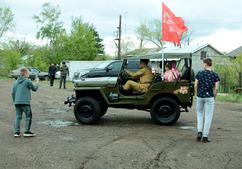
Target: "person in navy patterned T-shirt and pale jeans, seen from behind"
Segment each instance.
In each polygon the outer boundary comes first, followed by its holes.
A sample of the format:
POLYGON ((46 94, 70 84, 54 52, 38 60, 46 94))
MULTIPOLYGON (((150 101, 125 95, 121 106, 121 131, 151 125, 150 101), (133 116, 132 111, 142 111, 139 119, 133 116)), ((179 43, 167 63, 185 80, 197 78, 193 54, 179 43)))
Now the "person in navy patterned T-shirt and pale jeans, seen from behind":
POLYGON ((197 73, 194 84, 195 92, 197 93, 197 141, 202 139, 203 143, 210 142, 208 134, 213 118, 214 100, 218 93, 220 81, 218 74, 212 71, 211 66, 212 59, 206 58, 203 60, 204 70, 197 73), (213 92, 214 86, 215 91, 213 92), (204 114, 205 121, 203 127, 204 114))

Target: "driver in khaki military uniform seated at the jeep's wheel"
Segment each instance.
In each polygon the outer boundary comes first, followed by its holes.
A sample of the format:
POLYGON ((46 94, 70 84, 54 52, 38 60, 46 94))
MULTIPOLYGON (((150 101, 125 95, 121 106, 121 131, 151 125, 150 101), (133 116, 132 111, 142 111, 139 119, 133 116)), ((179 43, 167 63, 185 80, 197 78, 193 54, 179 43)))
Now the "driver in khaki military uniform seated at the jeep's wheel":
POLYGON ((131 76, 132 80, 128 80, 126 84, 123 86, 123 93, 127 94, 128 90, 133 89, 138 92, 147 92, 148 88, 153 81, 154 75, 152 74, 150 68, 147 66, 149 63, 149 59, 141 59, 140 60, 140 70, 137 72, 131 72, 126 69, 126 73, 131 76), (133 80, 139 80, 137 83, 133 80))

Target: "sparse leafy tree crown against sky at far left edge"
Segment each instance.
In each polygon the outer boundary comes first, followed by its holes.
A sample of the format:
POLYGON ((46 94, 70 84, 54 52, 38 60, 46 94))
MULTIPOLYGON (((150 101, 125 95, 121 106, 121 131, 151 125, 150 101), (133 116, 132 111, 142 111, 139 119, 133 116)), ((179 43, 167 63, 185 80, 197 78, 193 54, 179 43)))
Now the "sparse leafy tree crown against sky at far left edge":
POLYGON ((14 14, 9 7, 0 7, 0 38, 9 30, 15 28, 14 14))

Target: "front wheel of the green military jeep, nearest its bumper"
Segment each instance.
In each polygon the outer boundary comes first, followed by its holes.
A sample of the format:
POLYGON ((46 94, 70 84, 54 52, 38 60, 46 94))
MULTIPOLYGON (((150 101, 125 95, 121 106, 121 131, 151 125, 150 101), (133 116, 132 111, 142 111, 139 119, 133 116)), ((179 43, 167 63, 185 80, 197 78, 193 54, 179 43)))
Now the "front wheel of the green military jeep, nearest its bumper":
POLYGON ((95 124, 101 116, 101 107, 96 99, 82 97, 75 104, 74 115, 82 124, 95 124))

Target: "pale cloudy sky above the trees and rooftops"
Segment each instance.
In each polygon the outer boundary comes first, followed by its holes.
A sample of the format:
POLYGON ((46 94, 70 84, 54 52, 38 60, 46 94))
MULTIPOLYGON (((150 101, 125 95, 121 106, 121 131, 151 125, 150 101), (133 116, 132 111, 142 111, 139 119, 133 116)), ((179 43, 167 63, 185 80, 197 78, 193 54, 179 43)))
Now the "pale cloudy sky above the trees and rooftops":
MULTIPOLYGON (((242 45, 242 1, 240 0, 0 0, 0 7, 10 7, 15 14, 15 31, 5 36, 43 44, 37 40, 38 31, 33 15, 39 15, 41 5, 59 5, 60 21, 70 30, 71 16, 82 16, 92 23, 104 39, 107 54, 114 55, 113 32, 117 31, 122 15, 122 39, 135 38, 140 20, 162 19, 162 2, 185 20, 192 32, 190 45, 209 43, 221 52, 230 52, 242 45)), ((156 47, 149 45, 148 47, 156 47)))

